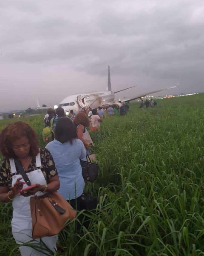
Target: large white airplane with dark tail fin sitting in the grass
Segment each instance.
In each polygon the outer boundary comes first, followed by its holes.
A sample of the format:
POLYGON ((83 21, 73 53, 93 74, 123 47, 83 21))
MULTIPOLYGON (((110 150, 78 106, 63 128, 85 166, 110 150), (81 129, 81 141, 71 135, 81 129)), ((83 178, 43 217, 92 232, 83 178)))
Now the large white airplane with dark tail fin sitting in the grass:
POLYGON ((148 94, 157 93, 162 90, 172 89, 172 88, 175 88, 176 86, 167 87, 167 88, 163 88, 160 90, 148 91, 147 93, 137 94, 129 99, 122 99, 121 101, 114 101, 115 93, 119 93, 119 92, 122 92, 124 90, 130 89, 133 87, 136 87, 136 85, 113 92, 111 90, 110 66, 108 66, 108 88, 107 88, 107 90, 97 91, 97 92, 89 92, 89 93, 78 93, 78 94, 68 96, 59 103, 59 107, 62 107, 65 110, 66 115, 68 115, 71 110, 73 110, 74 113, 78 113, 82 109, 87 110, 88 108, 106 107, 108 105, 117 105, 118 107, 121 107, 123 105, 123 103, 125 103, 125 102, 129 102, 134 99, 139 99, 148 94))

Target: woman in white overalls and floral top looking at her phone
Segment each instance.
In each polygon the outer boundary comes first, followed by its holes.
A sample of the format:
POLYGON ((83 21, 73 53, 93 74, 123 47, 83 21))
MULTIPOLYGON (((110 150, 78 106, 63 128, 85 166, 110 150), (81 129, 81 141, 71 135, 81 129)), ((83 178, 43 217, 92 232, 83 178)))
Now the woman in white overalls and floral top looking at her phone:
POLYGON ((5 157, 0 170, 0 202, 12 201, 12 233, 21 256, 53 255, 57 236, 32 239, 30 197, 59 189, 59 178, 54 160, 47 149, 41 149, 34 130, 25 122, 14 122, 0 134, 0 151, 5 157), (34 189, 22 192, 25 184, 14 158, 20 160, 34 189), (25 245, 26 243, 26 245, 25 245), (29 244, 31 246, 29 246, 29 244), (45 252, 45 253, 43 253, 45 252))

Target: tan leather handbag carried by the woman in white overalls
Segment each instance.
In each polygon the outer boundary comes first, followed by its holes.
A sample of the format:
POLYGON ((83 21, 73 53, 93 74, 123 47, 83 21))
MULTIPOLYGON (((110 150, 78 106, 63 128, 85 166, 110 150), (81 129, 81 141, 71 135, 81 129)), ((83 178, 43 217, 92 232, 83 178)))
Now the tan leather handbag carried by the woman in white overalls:
POLYGON ((57 235, 77 212, 58 192, 30 198, 32 238, 57 235))

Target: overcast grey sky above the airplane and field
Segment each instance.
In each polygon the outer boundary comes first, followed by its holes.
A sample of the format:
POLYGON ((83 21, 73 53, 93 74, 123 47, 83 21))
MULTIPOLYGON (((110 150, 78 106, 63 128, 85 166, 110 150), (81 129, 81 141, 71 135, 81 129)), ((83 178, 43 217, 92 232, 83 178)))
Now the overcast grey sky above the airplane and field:
MULTIPOLYGON (((74 93, 204 91, 203 0, 1 0, 0 112, 74 93)), ((159 93, 162 95, 162 93, 159 93)))

